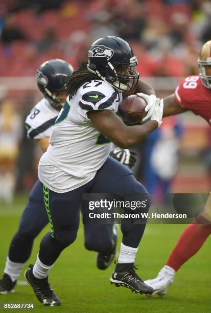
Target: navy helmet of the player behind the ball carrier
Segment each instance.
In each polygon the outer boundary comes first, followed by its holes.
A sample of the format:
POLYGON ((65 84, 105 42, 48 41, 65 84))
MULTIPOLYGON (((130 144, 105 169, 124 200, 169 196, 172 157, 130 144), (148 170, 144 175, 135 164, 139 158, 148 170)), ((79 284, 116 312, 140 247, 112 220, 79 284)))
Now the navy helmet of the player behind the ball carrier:
POLYGON ((37 70, 37 86, 51 105, 60 108, 64 100, 59 93, 66 91, 65 83, 73 74, 73 66, 61 59, 52 59, 42 63, 37 70))

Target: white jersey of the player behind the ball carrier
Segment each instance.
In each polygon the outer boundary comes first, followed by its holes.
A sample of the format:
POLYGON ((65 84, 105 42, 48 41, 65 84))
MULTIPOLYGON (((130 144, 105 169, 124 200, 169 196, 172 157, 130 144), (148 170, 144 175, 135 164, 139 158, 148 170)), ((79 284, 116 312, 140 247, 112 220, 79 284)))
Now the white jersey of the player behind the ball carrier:
POLYGON ((59 111, 47 99, 40 100, 26 118, 27 137, 31 139, 50 137, 58 115, 59 111))

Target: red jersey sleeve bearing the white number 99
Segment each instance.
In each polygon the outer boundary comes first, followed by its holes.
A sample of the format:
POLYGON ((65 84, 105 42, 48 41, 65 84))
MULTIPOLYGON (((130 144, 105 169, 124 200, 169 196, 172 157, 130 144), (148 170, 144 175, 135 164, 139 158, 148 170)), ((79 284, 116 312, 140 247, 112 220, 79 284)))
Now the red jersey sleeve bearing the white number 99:
POLYGON ((176 87, 174 98, 179 106, 192 109, 193 99, 198 92, 199 76, 189 76, 183 79, 176 87))

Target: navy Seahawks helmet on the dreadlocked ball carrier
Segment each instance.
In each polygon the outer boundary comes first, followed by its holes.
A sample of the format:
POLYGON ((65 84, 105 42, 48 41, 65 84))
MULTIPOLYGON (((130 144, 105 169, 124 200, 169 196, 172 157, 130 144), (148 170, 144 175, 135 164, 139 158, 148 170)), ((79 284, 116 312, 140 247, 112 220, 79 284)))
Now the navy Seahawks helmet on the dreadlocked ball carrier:
POLYGON ((92 43, 87 69, 118 91, 132 91, 139 78, 137 58, 130 45, 119 37, 108 36, 92 43))

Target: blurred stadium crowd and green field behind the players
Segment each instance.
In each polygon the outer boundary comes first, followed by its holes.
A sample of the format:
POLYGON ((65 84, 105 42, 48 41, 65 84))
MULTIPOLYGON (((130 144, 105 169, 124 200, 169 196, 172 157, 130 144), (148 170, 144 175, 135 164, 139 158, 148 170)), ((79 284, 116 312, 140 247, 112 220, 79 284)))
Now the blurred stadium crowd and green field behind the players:
MULTIPOLYGON (((28 192, 37 179, 41 150, 26 138, 24 121, 41 99, 35 78, 38 66, 48 59, 61 58, 77 68, 78 63, 87 58, 91 42, 102 36, 116 35, 129 41, 134 49, 141 79, 151 83, 159 97, 165 97, 175 91, 182 78, 198 74, 198 54, 202 44, 210 39, 210 33, 210 1, 0 1, 0 229, 4 238, 1 275, 10 239, 27 203, 28 192), (5 185, 14 189, 14 199, 5 185)), ((210 144, 210 127, 202 118, 192 113, 166 118, 160 130, 134 147, 139 156, 135 175, 151 192, 209 192, 210 144), (153 156, 158 153, 167 158, 165 168, 168 171, 164 175, 159 163, 154 164, 156 172, 152 166, 158 159, 153 156)), ((156 276, 183 228, 184 225, 147 226, 136 260, 143 267, 140 267, 143 279, 156 276)), ((47 231, 48 228, 36 239, 25 269, 34 262, 39 241, 47 231)), ((184 264, 166 298, 142 297, 140 302, 128 290, 120 292, 119 288, 110 287, 107 280, 111 268, 98 271, 95 253, 82 249, 82 228, 78 237, 73 249, 65 250, 52 271, 51 282, 61 296, 63 312, 210 311, 207 291, 210 265, 205 261, 209 258, 208 240, 205 247, 184 264)), ((39 306, 25 283, 21 274, 16 293, 8 295, 4 301, 33 301, 37 304, 36 311, 46 310, 39 306)))

